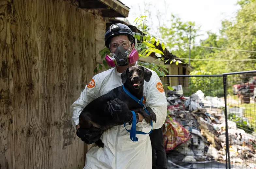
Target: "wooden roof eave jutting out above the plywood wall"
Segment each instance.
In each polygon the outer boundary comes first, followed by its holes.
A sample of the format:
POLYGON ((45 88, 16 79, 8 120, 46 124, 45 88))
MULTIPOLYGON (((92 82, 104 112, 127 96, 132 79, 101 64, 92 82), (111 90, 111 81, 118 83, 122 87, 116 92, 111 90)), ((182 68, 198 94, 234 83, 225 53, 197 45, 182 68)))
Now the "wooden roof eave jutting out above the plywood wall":
POLYGON ((104 17, 128 17, 129 8, 125 7, 117 0, 80 0, 79 7, 85 9, 99 9, 108 8, 109 10, 102 10, 104 17))

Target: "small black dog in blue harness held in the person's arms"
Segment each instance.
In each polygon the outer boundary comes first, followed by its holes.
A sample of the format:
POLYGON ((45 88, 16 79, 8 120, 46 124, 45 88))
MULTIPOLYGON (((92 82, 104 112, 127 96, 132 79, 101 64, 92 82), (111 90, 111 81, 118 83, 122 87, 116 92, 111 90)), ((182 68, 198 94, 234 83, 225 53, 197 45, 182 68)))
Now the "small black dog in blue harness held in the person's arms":
MULTIPOLYGON (((151 76, 152 72, 142 66, 130 66, 121 74, 124 87, 139 100, 143 96, 144 80, 148 82, 151 76)), ((115 120, 107 109, 107 102, 114 99, 121 100, 130 110, 140 113, 148 123, 150 120, 156 121, 156 115, 150 107, 146 107, 150 114, 148 115, 143 107, 127 95, 120 86, 93 100, 83 109, 79 116, 80 127, 88 129, 94 126, 107 130, 113 126, 122 125, 122 121, 115 120)), ((104 146, 101 140, 95 143, 99 147, 104 146)))

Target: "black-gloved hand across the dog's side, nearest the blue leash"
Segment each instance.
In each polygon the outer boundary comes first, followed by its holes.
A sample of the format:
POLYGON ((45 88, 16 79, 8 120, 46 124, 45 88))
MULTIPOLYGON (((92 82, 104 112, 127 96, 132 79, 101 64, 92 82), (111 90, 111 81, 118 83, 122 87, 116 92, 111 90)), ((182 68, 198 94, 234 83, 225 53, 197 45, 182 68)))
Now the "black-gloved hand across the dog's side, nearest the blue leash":
MULTIPOLYGON (((133 114, 124 102, 115 98, 114 100, 108 101, 107 104, 107 109, 114 119, 122 121, 123 123, 132 123, 133 114)), ((139 115, 138 113, 135 113, 135 115, 137 123, 139 121, 139 115)))

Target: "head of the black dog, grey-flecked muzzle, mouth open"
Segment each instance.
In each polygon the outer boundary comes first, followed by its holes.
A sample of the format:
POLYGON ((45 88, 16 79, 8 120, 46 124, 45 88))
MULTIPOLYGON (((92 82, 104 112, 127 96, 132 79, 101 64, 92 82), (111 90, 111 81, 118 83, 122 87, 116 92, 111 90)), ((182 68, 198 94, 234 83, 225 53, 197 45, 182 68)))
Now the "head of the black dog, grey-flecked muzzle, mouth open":
POLYGON ((135 89, 139 89, 144 80, 148 82, 151 76, 152 72, 142 66, 130 66, 121 74, 122 83, 129 83, 135 89))

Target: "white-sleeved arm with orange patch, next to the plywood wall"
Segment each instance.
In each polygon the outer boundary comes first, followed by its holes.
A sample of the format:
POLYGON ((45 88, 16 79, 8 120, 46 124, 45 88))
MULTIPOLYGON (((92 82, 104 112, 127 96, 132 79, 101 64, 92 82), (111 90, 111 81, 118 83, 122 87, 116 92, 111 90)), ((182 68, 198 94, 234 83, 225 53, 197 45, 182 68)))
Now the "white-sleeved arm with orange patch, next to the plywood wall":
POLYGON ((100 93, 100 80, 95 75, 92 80, 86 85, 80 97, 70 106, 72 112, 72 124, 76 130, 79 128, 79 115, 91 101, 99 97, 100 93))

